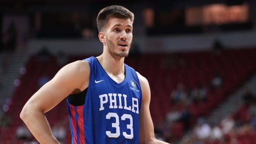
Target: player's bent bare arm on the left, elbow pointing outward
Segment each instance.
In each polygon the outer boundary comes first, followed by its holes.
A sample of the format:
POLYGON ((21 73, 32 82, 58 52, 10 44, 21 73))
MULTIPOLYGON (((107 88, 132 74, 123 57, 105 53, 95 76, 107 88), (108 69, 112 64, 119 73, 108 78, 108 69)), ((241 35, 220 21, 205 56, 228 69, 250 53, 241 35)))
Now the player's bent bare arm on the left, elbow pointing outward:
POLYGON ((44 113, 58 105, 75 90, 88 87, 90 66, 76 61, 64 66, 52 80, 41 87, 24 105, 20 117, 41 144, 59 144, 44 113))

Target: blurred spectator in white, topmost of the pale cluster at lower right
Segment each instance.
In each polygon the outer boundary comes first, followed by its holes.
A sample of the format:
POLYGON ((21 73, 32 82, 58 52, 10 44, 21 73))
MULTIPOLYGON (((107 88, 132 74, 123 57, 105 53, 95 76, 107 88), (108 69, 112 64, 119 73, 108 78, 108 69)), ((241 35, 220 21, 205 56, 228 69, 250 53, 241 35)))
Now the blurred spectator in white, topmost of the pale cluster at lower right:
POLYGON ((229 114, 220 122, 220 126, 222 128, 223 134, 228 134, 230 130, 232 130, 235 126, 235 120, 233 119, 232 115, 229 114))

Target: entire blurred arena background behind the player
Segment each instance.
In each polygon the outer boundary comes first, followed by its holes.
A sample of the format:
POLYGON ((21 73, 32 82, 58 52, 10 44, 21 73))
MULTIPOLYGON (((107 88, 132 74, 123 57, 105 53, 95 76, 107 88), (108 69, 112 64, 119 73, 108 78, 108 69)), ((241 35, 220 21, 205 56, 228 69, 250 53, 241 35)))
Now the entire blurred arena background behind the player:
MULTIPOLYGON (((112 4, 135 14, 125 63, 149 81, 158 139, 256 143, 255 1, 1 0, 0 144, 37 143, 18 137, 23 105, 63 65, 101 54, 96 16, 112 4)), ((66 100, 46 116, 70 144, 66 100)))

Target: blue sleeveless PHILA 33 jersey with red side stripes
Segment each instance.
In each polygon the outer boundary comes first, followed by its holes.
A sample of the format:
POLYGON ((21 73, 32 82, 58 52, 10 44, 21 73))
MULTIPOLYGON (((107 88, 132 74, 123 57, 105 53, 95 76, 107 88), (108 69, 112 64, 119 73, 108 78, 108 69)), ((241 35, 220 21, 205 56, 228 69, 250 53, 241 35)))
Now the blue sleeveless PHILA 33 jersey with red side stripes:
POLYGON ((126 76, 117 83, 95 57, 84 105, 69 103, 72 144, 138 144, 142 91, 135 70, 124 64, 126 76))

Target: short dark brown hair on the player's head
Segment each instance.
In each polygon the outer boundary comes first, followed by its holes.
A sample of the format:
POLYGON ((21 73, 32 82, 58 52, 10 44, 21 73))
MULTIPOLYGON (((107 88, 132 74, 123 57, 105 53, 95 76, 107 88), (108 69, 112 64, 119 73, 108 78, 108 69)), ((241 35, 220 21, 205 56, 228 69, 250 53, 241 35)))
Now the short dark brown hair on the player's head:
POLYGON ((106 26, 107 20, 109 17, 116 18, 130 18, 133 23, 134 14, 123 6, 112 5, 103 8, 97 16, 97 28, 98 32, 102 30, 106 26))

